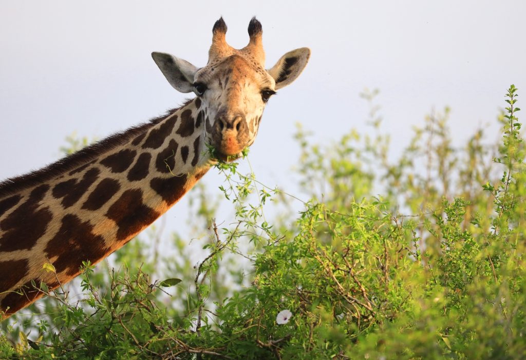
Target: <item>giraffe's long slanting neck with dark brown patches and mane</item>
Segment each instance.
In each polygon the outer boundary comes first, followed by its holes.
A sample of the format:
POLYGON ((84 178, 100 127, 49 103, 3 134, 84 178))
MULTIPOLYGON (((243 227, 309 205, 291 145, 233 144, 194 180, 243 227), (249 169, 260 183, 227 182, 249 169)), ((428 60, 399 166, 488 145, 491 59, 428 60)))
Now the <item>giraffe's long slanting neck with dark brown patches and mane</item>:
POLYGON ((54 289, 73 279, 83 261, 104 259, 174 205, 211 164, 205 117, 196 98, 1 183, 0 311, 40 298, 32 282, 54 289), (43 269, 46 262, 56 273, 43 269))

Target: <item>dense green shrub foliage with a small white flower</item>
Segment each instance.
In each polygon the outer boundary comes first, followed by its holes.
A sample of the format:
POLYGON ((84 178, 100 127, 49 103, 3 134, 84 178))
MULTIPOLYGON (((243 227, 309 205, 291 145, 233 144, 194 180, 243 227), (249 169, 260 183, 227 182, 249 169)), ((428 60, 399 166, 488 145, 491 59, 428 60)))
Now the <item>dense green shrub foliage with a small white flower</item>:
POLYGON ((0 357, 526 358, 515 87, 499 144, 479 130, 453 147, 446 109, 397 159, 374 94, 376 135, 320 146, 298 129, 297 197, 310 198, 299 215, 296 196, 220 163, 233 224, 216 224, 215 197, 198 186, 191 245, 174 234, 167 255, 153 230, 111 264, 86 264, 82 296, 64 287, 2 323, 0 357), (194 266, 196 245, 207 255, 194 266))

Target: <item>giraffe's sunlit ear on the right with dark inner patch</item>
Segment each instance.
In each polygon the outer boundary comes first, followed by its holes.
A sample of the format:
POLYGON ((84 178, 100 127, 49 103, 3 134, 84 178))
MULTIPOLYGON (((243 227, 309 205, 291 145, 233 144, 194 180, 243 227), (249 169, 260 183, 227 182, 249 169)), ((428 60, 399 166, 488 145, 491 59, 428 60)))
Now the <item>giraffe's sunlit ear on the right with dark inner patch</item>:
POLYGON ((292 50, 282 56, 276 65, 267 70, 270 76, 276 80, 276 90, 284 88, 296 80, 307 65, 309 57, 309 48, 292 50))

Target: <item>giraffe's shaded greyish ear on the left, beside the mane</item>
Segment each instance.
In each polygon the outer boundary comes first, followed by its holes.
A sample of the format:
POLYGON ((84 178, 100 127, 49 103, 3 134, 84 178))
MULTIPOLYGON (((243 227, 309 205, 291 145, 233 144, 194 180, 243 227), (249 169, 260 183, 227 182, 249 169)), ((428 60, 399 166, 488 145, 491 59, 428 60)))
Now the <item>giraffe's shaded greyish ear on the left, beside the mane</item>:
POLYGON ((151 57, 174 89, 180 92, 194 91, 194 76, 198 70, 194 65, 164 52, 152 52, 151 57))

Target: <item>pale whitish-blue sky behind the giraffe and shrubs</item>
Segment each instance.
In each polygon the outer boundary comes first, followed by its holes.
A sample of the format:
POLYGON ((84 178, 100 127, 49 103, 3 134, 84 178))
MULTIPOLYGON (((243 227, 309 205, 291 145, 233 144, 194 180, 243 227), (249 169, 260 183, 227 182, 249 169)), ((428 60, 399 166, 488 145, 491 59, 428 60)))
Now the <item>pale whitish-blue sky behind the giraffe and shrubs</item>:
MULTIPOLYGON (((511 83, 526 99, 524 1, 0 1, 0 178, 56 160, 65 137, 99 139, 181 104, 150 57, 170 52, 201 67, 221 15, 241 48, 257 16, 267 67, 310 47, 302 75, 272 97, 250 163, 258 179, 294 193, 295 123, 327 143, 366 131, 364 88, 380 89, 393 151, 432 108, 451 107, 460 143, 490 125, 511 83)), ((522 104, 526 109, 526 105, 522 104)), ((520 117, 521 113, 519 113, 520 117)), ((491 139, 494 140, 494 139, 491 139)), ((210 186, 217 171, 205 176, 210 186)), ((184 203, 170 210, 186 222, 184 203)), ((170 220, 171 221, 171 220, 170 220)))

